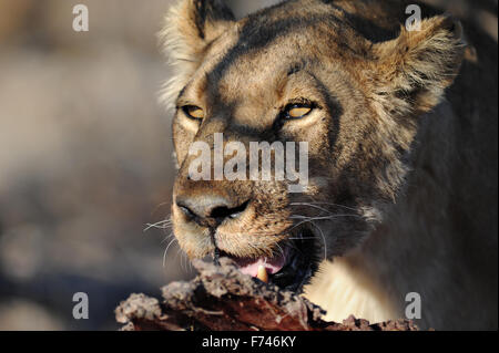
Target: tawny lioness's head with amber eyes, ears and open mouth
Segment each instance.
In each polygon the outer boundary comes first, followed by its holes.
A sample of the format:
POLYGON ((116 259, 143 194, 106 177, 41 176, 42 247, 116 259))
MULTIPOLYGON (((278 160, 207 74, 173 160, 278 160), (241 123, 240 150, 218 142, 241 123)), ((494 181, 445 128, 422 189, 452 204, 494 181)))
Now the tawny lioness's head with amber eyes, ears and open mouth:
MULTIPOLYGON (((342 3, 286 1, 240 21, 220 0, 183 0, 171 11, 172 218, 189 257, 227 256, 255 277, 264 267, 272 282, 297 290, 319 260, 355 249, 396 200, 418 117, 458 73, 460 27, 449 17, 415 32, 394 23, 398 34, 375 41, 342 3), (190 147, 216 149, 215 134, 246 152, 252 142, 308 143, 307 187, 193 179, 190 147)), ((227 162, 235 150, 218 153, 227 162)))

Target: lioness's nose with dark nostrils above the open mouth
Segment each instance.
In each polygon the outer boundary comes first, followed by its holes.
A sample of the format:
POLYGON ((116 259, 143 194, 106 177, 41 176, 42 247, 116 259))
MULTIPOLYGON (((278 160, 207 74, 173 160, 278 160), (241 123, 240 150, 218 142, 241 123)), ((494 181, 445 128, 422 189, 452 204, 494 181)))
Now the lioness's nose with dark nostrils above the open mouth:
POLYGON ((218 227, 225 219, 240 217, 249 201, 234 205, 220 196, 177 197, 176 206, 192 220, 205 227, 218 227))

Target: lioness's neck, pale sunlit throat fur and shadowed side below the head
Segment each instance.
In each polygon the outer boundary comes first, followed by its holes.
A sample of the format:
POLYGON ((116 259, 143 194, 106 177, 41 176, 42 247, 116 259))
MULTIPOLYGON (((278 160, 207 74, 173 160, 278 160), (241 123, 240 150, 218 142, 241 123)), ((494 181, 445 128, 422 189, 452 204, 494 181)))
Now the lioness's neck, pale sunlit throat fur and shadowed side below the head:
POLYGON ((487 297, 479 284, 483 274, 470 272, 481 267, 466 263, 466 230, 455 226, 460 206, 450 180, 458 156, 456 142, 442 138, 451 136, 446 132, 456 128, 455 121, 447 103, 424 117, 418 141, 425 143, 396 207, 355 251, 322 264, 306 297, 328 312, 327 320, 342 322, 350 314, 370 322, 403 319, 413 292, 421 298, 421 329, 462 324, 485 307, 473 300, 487 297))

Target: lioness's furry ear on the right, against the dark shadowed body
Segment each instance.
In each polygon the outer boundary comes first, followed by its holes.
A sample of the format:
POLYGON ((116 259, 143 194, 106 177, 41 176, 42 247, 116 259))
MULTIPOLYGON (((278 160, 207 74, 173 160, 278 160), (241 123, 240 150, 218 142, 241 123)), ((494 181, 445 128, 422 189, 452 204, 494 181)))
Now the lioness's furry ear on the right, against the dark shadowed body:
POLYGON ((420 31, 401 29, 375 44, 375 102, 388 114, 421 114, 440 103, 459 72, 465 43, 461 24, 450 15, 421 21, 420 31))

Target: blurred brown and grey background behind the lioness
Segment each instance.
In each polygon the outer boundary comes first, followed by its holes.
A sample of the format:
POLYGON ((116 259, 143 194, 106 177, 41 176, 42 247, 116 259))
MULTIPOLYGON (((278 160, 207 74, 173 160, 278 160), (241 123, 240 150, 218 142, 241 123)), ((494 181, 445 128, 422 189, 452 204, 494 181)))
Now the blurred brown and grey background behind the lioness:
MULTIPOLYGON (((170 232, 173 0, 0 0, 0 330, 116 330, 132 292, 193 276, 170 232), (86 4, 90 31, 74 32, 86 4), (90 319, 72 316, 85 292, 90 319)), ((238 17, 277 1, 230 0, 238 17)), ((497 41, 497 0, 429 0, 497 41)))

